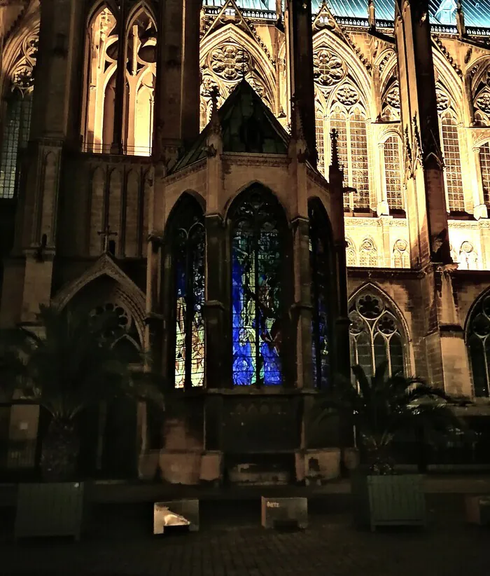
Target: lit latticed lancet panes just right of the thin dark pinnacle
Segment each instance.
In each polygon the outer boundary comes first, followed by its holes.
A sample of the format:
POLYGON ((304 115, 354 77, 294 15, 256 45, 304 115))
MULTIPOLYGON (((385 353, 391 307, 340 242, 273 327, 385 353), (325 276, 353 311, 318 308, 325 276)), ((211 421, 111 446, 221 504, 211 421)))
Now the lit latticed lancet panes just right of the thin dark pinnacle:
POLYGON ((355 192, 344 196, 344 208, 367 211, 370 190, 365 115, 358 109, 346 114, 337 108, 330 114, 330 130, 332 128, 337 130, 339 163, 344 167, 346 184, 356 188, 355 192))

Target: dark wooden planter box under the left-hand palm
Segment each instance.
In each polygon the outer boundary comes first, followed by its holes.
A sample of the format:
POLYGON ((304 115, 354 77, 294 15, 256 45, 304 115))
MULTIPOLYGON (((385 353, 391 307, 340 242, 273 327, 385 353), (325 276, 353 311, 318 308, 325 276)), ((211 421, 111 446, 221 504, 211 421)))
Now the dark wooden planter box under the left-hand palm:
POLYGON ((15 540, 34 536, 73 536, 80 540, 85 487, 83 483, 20 484, 15 515, 15 540))

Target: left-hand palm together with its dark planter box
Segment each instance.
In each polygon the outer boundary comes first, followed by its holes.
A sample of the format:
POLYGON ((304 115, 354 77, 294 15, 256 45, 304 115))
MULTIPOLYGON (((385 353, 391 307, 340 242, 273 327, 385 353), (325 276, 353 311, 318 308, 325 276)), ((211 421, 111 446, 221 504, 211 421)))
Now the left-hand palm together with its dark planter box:
POLYGON ((3 331, 2 386, 34 399, 50 415, 42 439, 41 484, 21 484, 19 535, 80 536, 85 486, 78 477, 78 416, 117 397, 163 406, 156 378, 134 371, 114 344, 118 319, 42 307, 36 327, 3 331), (35 517, 34 517, 35 516, 35 517))

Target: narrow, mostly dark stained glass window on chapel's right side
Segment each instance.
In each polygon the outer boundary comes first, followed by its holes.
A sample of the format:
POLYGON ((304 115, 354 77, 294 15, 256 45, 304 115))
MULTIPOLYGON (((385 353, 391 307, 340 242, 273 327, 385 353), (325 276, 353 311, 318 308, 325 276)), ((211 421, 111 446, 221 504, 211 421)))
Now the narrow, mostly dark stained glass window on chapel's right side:
POLYGON ((322 207, 310 205, 309 262, 311 303, 313 305, 311 340, 313 345, 313 381, 317 388, 325 388, 330 378, 328 302, 330 296, 329 280, 332 270, 329 266, 326 227, 327 221, 322 207))

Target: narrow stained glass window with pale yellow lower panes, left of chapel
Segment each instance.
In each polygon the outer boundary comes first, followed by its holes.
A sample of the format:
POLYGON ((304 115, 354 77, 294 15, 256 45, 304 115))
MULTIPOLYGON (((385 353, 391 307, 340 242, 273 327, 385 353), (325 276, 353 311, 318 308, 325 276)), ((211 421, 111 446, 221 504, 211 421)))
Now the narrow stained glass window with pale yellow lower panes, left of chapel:
POLYGON ((205 233, 192 200, 184 200, 180 210, 174 244, 175 387, 194 388, 204 384, 205 233))

